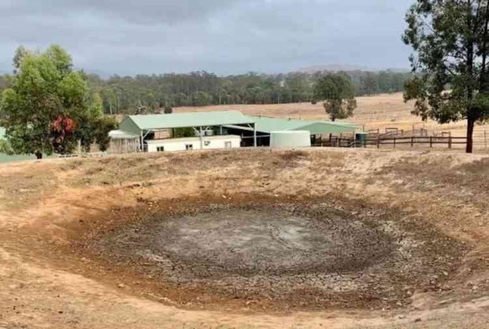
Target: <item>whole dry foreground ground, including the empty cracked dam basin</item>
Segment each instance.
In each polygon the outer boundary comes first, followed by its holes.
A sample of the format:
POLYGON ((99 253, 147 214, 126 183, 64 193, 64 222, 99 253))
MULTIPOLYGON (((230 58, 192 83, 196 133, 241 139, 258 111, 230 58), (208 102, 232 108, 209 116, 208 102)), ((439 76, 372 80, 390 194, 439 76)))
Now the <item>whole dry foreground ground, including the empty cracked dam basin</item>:
POLYGON ((243 149, 0 165, 0 328, 489 328, 488 164, 243 149))

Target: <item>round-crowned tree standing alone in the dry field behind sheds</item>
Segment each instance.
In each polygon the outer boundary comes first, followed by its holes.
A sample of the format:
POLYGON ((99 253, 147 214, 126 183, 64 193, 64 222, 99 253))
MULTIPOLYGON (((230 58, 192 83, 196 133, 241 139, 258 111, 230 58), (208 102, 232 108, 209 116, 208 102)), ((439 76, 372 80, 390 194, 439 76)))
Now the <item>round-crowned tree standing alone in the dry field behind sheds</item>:
POLYGON ((323 101, 332 121, 346 119, 356 109, 355 86, 346 74, 328 74, 314 85, 313 101, 323 101))

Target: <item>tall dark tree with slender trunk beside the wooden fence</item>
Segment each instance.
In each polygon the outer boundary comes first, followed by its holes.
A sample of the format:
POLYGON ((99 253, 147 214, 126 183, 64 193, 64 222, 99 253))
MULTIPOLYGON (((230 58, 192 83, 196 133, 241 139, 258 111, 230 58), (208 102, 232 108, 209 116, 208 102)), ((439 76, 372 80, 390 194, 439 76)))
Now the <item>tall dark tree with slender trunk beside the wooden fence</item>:
POLYGON ((474 124, 489 113, 488 0, 418 0, 407 15, 403 41, 415 78, 406 83, 413 113, 441 124, 467 120, 467 153, 474 124))

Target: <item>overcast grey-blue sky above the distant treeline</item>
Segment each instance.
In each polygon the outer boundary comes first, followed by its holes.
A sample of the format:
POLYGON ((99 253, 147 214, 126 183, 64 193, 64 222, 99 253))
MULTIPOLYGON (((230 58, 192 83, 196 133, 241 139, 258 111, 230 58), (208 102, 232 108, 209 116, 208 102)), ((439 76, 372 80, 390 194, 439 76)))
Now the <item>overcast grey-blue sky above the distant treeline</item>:
POLYGON ((409 68, 414 0, 0 0, 0 72, 15 49, 59 44, 111 74, 409 68))

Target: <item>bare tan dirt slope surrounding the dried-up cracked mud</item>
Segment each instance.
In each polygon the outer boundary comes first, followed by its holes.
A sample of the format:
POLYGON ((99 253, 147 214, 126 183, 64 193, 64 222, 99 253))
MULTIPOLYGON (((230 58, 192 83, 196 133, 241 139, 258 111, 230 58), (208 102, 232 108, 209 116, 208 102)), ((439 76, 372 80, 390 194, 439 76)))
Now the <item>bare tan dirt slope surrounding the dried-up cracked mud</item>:
POLYGON ((1 165, 0 328, 489 328, 488 174, 482 155, 328 149, 1 165), (275 307, 273 295, 249 300, 155 283, 132 263, 98 259, 84 243, 97 232, 123 234, 133 246, 144 241, 133 240, 139 231, 127 231, 128 223, 162 210, 180 216, 185 200, 197 209, 209 199, 244 204, 254 196, 268 205, 323 200, 355 216, 397 214, 461 253, 426 240, 425 251, 440 258, 423 267, 417 285, 399 287, 400 304, 315 304, 312 312, 307 304, 275 307))

